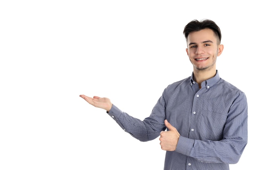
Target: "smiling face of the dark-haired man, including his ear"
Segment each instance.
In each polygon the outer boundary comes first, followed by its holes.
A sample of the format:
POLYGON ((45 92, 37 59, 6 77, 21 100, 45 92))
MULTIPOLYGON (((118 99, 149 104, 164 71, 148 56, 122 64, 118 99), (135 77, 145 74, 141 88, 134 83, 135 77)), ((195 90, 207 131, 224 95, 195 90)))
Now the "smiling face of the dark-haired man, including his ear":
POLYGON ((187 46, 186 52, 194 71, 216 71, 217 56, 222 53, 223 45, 211 29, 189 33, 187 46))

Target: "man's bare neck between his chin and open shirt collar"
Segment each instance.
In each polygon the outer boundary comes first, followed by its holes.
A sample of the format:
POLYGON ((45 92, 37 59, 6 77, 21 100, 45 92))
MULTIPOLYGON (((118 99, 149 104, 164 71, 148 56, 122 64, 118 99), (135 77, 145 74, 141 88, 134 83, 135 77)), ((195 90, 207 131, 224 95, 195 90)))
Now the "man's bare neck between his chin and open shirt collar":
POLYGON ((193 71, 193 79, 198 83, 199 88, 201 88, 201 83, 211 77, 216 75, 216 69, 212 69, 211 71, 203 71, 203 70, 195 70, 193 71))

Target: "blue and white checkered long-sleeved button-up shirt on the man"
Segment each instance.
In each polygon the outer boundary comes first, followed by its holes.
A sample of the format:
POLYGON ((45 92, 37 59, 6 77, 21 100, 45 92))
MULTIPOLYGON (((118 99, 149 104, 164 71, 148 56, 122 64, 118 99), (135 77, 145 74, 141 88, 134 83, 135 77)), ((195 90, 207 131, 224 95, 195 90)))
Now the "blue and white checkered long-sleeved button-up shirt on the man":
POLYGON ((180 139, 175 151, 166 151, 164 170, 229 170, 247 144, 247 99, 221 79, 218 71, 201 86, 193 80, 193 73, 170 84, 143 121, 114 104, 108 114, 140 141, 159 137, 167 119, 180 139))

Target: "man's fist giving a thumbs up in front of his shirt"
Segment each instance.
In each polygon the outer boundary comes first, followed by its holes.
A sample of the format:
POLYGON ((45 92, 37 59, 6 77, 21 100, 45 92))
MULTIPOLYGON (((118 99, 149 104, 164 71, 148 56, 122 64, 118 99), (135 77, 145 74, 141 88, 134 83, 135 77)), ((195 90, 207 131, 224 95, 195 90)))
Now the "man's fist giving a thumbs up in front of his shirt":
POLYGON ((164 120, 165 126, 169 131, 160 132, 160 145, 162 150, 174 151, 177 147, 180 133, 173 127, 166 119, 164 120))

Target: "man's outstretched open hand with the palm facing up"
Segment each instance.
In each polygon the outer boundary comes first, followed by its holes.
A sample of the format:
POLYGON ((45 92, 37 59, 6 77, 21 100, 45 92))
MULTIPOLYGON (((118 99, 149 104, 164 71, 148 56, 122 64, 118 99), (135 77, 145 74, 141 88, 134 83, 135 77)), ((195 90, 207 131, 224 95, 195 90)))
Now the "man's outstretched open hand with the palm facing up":
POLYGON ((97 108, 103 108, 105 110, 107 110, 109 112, 109 110, 112 107, 112 103, 110 102, 110 99, 106 98, 106 97, 98 97, 98 96, 94 96, 92 97, 88 97, 85 95, 79 95, 80 97, 82 97, 83 99, 85 99, 86 102, 88 102, 89 104, 91 104, 92 106, 95 106, 97 108))

